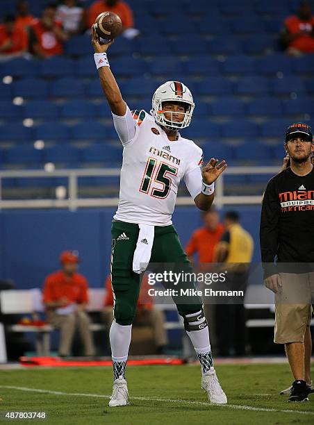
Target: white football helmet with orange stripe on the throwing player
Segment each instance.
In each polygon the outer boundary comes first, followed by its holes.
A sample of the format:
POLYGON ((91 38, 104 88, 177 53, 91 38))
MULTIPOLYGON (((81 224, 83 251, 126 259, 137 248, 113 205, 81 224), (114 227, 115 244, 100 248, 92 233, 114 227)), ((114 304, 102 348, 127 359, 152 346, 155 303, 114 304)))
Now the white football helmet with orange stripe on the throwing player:
MULTIPOLYGON (((151 115, 155 118, 157 124, 165 126, 169 130, 176 130, 177 128, 185 128, 190 125, 192 113, 195 108, 192 93, 190 90, 179 81, 167 81, 160 85, 154 93, 151 102, 152 110, 151 115), (176 101, 182 102, 185 106, 184 119, 182 122, 173 121, 173 119, 165 119, 165 111, 163 110, 163 102, 176 101)), ((173 113, 171 113, 173 115, 173 113)))

